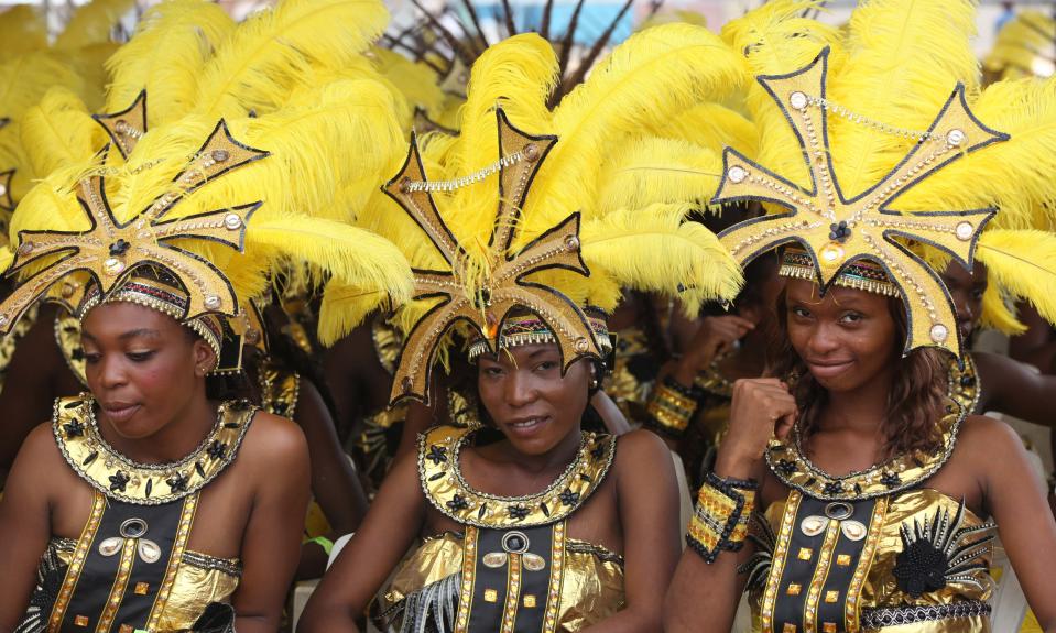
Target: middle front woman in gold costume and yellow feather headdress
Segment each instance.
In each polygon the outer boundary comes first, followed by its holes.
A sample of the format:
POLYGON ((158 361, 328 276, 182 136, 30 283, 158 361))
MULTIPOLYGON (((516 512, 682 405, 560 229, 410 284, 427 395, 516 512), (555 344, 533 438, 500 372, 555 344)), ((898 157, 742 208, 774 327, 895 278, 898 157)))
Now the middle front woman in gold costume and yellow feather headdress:
POLYGON ((674 472, 649 433, 584 432, 611 352, 589 306, 611 309, 623 287, 731 296, 739 275, 715 236, 683 221, 685 205, 600 204, 600 163, 642 125, 729 88, 733 63, 704 29, 651 30, 552 111, 555 55, 522 35, 475 65, 457 139, 412 141, 384 189, 405 214, 375 210, 415 265, 391 399, 437 397, 431 372, 460 328, 486 423, 429 429, 396 461, 303 630, 355 630, 418 536, 377 604, 385 631, 660 626, 678 549, 674 472))

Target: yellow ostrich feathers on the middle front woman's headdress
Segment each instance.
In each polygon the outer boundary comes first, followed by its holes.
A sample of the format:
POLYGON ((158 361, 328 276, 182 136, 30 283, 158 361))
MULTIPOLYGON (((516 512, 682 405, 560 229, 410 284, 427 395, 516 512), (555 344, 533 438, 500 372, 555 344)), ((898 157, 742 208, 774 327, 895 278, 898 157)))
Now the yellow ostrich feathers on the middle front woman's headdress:
MULTIPOLYGON (((554 287, 580 305, 605 309, 616 306, 623 288, 688 297, 694 306, 705 297, 732 297, 740 286, 740 269, 714 234, 685 222, 687 205, 639 205, 625 190, 606 196, 602 192, 614 186, 614 179, 625 178, 619 171, 625 161, 614 157, 624 145, 663 129, 665 120, 708 97, 719 100, 736 94, 744 77, 739 64, 706 29, 656 26, 617 47, 583 85, 548 110, 546 99, 558 67, 551 45, 534 34, 511 37, 490 47, 475 64, 460 113, 460 134, 429 135, 418 143, 427 182, 458 179, 496 163, 499 106, 524 133, 557 138, 513 220, 515 237, 507 255, 513 257, 571 214, 581 217, 581 257, 589 276, 549 270, 529 280, 554 287)), ((661 187, 667 176, 650 173, 642 182, 661 187)), ((491 273, 488 262, 499 196, 494 174, 432 194, 464 251, 460 257, 466 261, 459 261, 459 270, 467 279, 460 283, 470 293, 491 273)), ((422 229, 395 204, 371 205, 363 221, 400 244, 416 269, 447 270, 422 229)), ((328 297, 324 306, 337 306, 340 297, 359 298, 333 288, 333 302, 328 297)), ((398 313, 399 323, 410 329, 432 305, 404 306, 398 313)))

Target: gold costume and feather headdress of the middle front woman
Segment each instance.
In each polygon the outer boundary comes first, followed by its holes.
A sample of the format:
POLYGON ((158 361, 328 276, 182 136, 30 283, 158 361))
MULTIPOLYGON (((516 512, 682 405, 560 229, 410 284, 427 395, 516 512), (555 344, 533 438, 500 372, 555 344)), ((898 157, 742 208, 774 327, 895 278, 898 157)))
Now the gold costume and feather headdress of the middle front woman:
MULTIPOLYGON (((554 343, 562 372, 611 350, 602 313, 624 286, 732 296, 739 274, 715 237, 683 221, 684 205, 605 207, 596 192, 607 148, 690 102, 698 88, 730 85, 729 55, 705 30, 672 26, 632 37, 551 111, 558 63, 551 45, 520 35, 472 69, 457 138, 412 141, 385 186, 399 205, 367 222, 401 244, 415 268, 415 299, 394 315, 407 332, 392 401, 428 402, 433 367, 468 356, 554 343), (710 84, 709 86, 709 81, 710 84), (671 86, 685 89, 669 90, 671 86), (667 91, 669 90, 669 91, 667 91), (654 108, 656 96, 669 100, 654 108), (400 208, 405 211, 403 218, 400 208), (657 262, 653 253, 668 258, 657 262)), ((341 296, 340 287, 327 288, 341 296)), ((328 309, 324 296, 324 313, 328 309)), ((320 330, 320 336, 324 336, 320 330)), ((577 631, 623 605, 620 556, 569 534, 569 517, 603 483, 618 441, 584 433, 566 471, 537 494, 479 492, 459 452, 478 429, 437 427, 418 444, 427 503, 460 525, 433 535, 392 577, 375 609, 385 631, 577 631)))

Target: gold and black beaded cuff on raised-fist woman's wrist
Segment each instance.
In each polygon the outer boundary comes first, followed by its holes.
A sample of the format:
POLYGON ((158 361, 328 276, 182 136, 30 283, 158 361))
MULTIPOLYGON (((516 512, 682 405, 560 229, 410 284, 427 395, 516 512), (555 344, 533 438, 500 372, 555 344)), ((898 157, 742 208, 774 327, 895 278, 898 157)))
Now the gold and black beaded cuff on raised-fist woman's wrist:
POLYGON ((738 552, 748 537, 748 522, 755 506, 759 483, 753 480, 705 477, 697 508, 689 521, 686 543, 708 564, 719 552, 738 552))

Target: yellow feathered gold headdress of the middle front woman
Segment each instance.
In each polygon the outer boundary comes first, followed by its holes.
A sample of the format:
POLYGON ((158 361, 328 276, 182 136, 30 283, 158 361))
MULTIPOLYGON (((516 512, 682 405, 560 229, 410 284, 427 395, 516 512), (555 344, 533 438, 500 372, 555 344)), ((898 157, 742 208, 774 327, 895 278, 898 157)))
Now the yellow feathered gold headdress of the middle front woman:
POLYGON ((715 236, 683 221, 685 205, 607 208, 595 194, 606 152, 700 95, 736 89, 734 57, 705 29, 650 29, 551 110, 557 62, 537 35, 489 48, 472 70, 460 135, 414 138, 385 186, 407 218, 385 211, 383 231, 405 244, 417 299, 398 315, 409 335, 393 401, 428 397, 456 323, 481 350, 519 337, 554 341, 567 369, 609 345, 587 305, 611 309, 624 287, 709 297, 739 287, 715 236))

